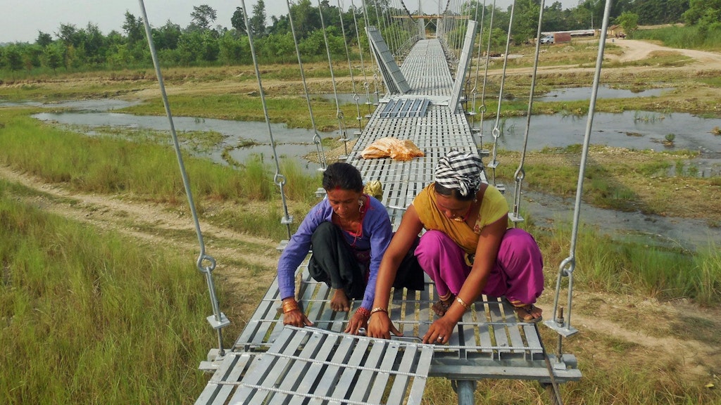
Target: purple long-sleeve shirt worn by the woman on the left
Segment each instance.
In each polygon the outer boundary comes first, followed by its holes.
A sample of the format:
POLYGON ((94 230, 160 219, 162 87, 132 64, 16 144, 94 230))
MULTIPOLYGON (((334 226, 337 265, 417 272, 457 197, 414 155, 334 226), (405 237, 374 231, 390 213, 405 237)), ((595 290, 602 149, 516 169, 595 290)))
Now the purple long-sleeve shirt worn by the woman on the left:
MULTIPOLYGON (((378 277, 378 267, 381 265, 388 244, 393 236, 393 228, 391 220, 388 217, 386 208, 379 200, 374 197, 369 198, 371 204, 366 215, 363 217, 363 233, 358 239, 351 236, 350 233, 342 231, 348 244, 355 241, 355 249, 371 250, 370 275, 368 276, 368 285, 366 292, 363 294, 363 303, 361 306, 370 309, 373 305, 373 298, 376 295, 376 278, 378 277)), ((325 198, 316 206, 311 208, 306 218, 304 218, 298 231, 291 237, 283 254, 280 254, 278 260, 278 288, 280 289, 280 298, 288 298, 295 294, 294 275, 296 269, 305 259, 311 249, 311 236, 316 228, 323 222, 331 222, 333 209, 325 198)))

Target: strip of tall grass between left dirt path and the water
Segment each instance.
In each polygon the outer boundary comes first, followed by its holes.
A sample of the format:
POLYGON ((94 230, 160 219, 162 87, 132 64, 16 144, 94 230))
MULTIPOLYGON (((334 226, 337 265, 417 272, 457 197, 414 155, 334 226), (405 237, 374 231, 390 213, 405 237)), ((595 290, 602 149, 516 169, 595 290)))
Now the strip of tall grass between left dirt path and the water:
MULTIPOLYGON (((185 200, 175 153, 149 141, 89 138, 39 123, 27 111, 6 110, 0 127, 0 162, 48 182, 85 192, 128 192, 167 203, 185 200)), ((267 199, 272 177, 257 164, 234 170, 184 156, 193 194, 200 199, 267 199)))

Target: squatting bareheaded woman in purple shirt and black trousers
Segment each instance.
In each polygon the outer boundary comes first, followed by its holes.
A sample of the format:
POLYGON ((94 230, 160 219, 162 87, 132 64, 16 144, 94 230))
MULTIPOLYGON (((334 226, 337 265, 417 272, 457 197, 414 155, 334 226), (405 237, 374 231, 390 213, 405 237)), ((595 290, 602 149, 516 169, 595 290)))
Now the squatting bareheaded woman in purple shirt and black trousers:
MULTIPOLYGON (((323 174, 323 188, 327 198, 306 215, 278 261, 283 324, 313 324, 296 302, 293 277, 312 249, 308 270, 315 280, 335 289, 330 301, 333 311, 350 311, 350 299, 363 298, 345 329, 357 334, 368 325, 378 267, 393 236, 391 222, 384 205, 363 193, 361 172, 355 166, 330 164, 323 174)), ((404 274, 397 275, 394 285, 423 290, 422 270, 413 255, 407 259, 404 274)))

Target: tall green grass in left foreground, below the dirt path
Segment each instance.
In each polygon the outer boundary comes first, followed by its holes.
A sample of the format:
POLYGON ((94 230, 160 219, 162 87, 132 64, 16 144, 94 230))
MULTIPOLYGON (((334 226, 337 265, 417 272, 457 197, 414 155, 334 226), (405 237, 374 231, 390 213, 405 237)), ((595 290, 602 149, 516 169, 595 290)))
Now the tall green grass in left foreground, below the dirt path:
MULTIPOLYGON (((187 403, 210 309, 193 257, 9 199, 0 182, 4 404, 187 403)), ((212 339, 212 338, 211 338, 212 339)))

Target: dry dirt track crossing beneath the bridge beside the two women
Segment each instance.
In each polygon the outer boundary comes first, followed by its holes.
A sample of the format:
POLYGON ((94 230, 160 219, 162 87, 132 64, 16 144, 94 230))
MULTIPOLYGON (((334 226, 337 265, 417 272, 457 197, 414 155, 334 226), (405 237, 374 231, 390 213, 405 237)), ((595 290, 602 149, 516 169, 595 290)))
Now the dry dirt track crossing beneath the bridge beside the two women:
MULTIPOLYGON (((48 184, 6 166, 0 166, 0 177, 42 193, 40 197, 25 199, 50 213, 118 231, 136 239, 138 244, 164 246, 180 254, 192 252, 192 255, 188 254, 189 259, 197 257, 199 249, 193 221, 182 210, 119 196, 71 192, 63 185, 48 184)), ((200 228, 205 236, 206 252, 218 262, 214 273, 216 282, 224 283, 232 294, 244 297, 236 303, 236 308, 222 308, 234 318, 235 330, 228 332, 237 334, 275 275, 276 244, 203 221, 200 228), (258 266, 265 271, 259 274, 249 269, 258 266), (247 282, 251 279, 254 282, 247 282)), ((551 308, 552 300, 553 294, 549 291, 541 296, 539 305, 551 308)), ((603 342, 611 339, 627 342, 625 345, 629 350, 624 352, 622 361, 632 367, 673 368, 674 374, 678 373, 689 383, 712 381, 712 375, 718 373, 717 367, 721 364, 721 352, 717 350, 719 339, 702 338, 710 334, 709 331, 721 330, 720 308, 699 308, 686 301, 660 303, 628 295, 581 290, 576 291, 574 300, 572 325, 582 333, 578 339, 567 339, 566 350, 590 350, 590 354, 581 356, 612 360, 619 353, 603 352, 605 344, 594 343, 598 339, 603 342), (688 326, 699 322, 705 325, 704 328, 694 331, 688 326), (689 331, 688 336, 684 331, 689 331)))

